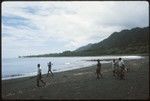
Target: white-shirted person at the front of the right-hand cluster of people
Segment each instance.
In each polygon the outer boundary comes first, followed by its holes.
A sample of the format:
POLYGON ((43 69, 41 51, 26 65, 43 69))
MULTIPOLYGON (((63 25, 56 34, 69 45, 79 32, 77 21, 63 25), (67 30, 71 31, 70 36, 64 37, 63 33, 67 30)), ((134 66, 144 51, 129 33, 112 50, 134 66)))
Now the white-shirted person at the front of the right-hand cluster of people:
POLYGON ((120 79, 124 79, 125 80, 125 73, 126 73, 126 67, 125 67, 125 65, 124 65, 124 61, 121 59, 121 58, 119 58, 119 61, 118 61, 118 65, 119 65, 119 67, 120 67, 120 79))

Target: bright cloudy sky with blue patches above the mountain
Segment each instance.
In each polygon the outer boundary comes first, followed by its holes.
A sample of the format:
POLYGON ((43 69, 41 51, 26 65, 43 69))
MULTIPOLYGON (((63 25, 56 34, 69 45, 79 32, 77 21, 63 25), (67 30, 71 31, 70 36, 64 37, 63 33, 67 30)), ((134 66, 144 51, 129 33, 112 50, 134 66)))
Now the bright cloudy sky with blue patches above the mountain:
POLYGON ((146 1, 2 2, 2 58, 73 51, 149 26, 146 1))

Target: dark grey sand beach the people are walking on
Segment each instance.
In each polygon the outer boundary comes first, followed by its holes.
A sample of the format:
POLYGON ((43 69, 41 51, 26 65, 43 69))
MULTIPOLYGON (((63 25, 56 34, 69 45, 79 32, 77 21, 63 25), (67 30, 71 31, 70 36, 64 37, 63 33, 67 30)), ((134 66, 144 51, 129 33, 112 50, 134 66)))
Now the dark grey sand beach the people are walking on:
POLYGON ((113 78, 110 63, 102 64, 100 80, 96 66, 43 75, 42 87, 36 87, 36 77, 3 80, 2 99, 149 99, 149 57, 125 63, 126 80, 113 78))

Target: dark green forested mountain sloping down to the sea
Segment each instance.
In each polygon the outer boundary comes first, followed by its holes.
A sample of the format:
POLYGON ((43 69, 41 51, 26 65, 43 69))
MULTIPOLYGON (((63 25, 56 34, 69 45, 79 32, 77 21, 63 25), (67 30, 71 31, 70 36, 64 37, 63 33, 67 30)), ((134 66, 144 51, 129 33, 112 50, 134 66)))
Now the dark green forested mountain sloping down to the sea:
POLYGON ((149 53, 149 27, 133 28, 112 33, 101 42, 79 47, 75 51, 62 53, 31 55, 24 57, 51 56, 98 56, 114 54, 143 54, 149 53))

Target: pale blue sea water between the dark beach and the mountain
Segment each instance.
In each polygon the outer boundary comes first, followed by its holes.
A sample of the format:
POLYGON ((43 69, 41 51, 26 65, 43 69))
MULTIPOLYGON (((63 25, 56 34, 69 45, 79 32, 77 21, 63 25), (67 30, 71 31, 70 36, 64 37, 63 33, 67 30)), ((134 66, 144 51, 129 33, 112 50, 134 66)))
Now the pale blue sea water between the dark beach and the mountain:
MULTIPOLYGON (((33 76, 37 73, 37 64, 41 64, 42 74, 47 73, 47 63, 52 62, 52 71, 61 72, 95 65, 90 59, 141 59, 141 56, 90 56, 90 57, 45 57, 45 58, 7 58, 2 59, 2 80, 33 76)), ((101 63, 110 63, 102 61, 101 63)))

